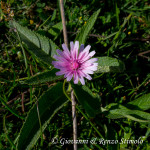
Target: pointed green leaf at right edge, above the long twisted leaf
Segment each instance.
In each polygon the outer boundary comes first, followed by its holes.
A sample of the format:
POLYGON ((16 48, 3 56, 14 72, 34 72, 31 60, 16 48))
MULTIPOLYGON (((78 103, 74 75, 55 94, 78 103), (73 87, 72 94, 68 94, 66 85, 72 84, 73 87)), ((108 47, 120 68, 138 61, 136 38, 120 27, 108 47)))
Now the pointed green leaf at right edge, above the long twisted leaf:
POLYGON ((142 110, 150 109, 150 93, 143 95, 132 102, 127 103, 126 106, 131 109, 142 109, 142 110))

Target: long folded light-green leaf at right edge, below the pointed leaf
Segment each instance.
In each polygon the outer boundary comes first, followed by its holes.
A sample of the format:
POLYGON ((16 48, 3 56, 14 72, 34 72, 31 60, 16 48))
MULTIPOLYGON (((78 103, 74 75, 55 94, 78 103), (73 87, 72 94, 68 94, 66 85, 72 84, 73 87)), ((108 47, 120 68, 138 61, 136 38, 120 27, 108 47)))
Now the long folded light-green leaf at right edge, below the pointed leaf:
POLYGON ((118 118, 129 118, 134 121, 138 122, 148 122, 150 120, 150 114, 139 111, 139 110, 132 110, 128 109, 120 104, 109 104, 108 106, 109 111, 107 113, 107 117, 111 119, 118 119, 118 118))

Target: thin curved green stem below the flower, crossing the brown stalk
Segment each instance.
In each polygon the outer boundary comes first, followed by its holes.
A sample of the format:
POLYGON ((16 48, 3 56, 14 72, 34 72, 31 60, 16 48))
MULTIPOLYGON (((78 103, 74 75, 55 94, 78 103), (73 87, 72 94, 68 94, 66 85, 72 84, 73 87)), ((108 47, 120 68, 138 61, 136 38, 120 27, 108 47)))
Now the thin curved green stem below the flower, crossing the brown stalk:
MULTIPOLYGON (((71 101, 71 98, 68 96, 68 94, 66 93, 65 91, 65 83, 66 83, 66 80, 64 80, 64 83, 63 83, 63 92, 65 94, 65 96, 69 99, 70 102, 71 101)), ((76 105, 76 108, 78 109, 78 111, 84 116, 84 118, 89 121, 90 125, 93 127, 93 129, 97 132, 97 134, 101 137, 101 138, 104 138, 103 135, 98 131, 98 129, 95 127, 95 125, 89 120, 89 118, 86 116, 86 114, 84 114, 84 112, 76 105)))

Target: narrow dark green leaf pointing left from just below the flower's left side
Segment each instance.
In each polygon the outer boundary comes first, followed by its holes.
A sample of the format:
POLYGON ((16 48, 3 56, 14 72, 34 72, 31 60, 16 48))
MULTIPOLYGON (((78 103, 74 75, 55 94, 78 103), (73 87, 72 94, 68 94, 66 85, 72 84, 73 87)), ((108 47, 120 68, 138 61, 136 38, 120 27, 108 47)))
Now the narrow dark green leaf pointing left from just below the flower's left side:
POLYGON ((35 76, 29 78, 24 83, 29 85, 42 84, 45 82, 56 81, 59 79, 63 79, 63 76, 56 76, 57 69, 47 70, 42 73, 38 73, 35 76))

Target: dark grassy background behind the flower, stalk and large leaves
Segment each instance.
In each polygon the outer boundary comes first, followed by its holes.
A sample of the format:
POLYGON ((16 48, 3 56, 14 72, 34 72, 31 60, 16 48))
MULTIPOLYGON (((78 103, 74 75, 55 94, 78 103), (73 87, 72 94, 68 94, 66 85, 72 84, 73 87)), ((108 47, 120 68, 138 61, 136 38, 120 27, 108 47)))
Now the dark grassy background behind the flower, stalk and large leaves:
MULTIPOLYGON (((54 83, 27 86, 21 82, 41 72, 47 66, 25 52, 25 66, 21 44, 10 28, 16 20, 37 33, 52 39, 59 47, 63 43, 59 1, 7 0, 0 1, 0 149, 11 149, 17 140, 23 120, 12 112, 26 116, 37 98, 54 83)), ((123 73, 94 76, 87 86, 101 96, 101 105, 126 104, 150 91, 150 1, 149 0, 66 0, 65 14, 69 41, 74 41, 89 17, 101 12, 88 36, 86 45, 96 50, 97 56, 111 56, 125 63, 123 73)), ((150 111, 147 111, 150 112, 150 111)), ((150 124, 130 119, 110 120, 103 115, 91 119, 106 139, 138 139, 147 136, 142 145, 79 145, 81 149, 150 149, 150 124)), ((44 146, 40 140, 33 149, 72 149, 72 145, 53 145, 53 137, 72 138, 71 107, 66 104, 54 116, 44 131, 44 146)), ((78 113, 78 138, 98 137, 78 113)))

